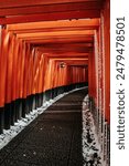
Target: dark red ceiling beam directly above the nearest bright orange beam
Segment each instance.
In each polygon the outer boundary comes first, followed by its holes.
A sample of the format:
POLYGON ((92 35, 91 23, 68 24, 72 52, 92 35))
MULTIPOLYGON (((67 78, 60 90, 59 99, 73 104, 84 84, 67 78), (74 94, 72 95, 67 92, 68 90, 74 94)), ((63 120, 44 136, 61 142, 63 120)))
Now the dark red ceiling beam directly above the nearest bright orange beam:
POLYGON ((72 20, 72 19, 86 19, 86 18, 100 18, 100 10, 86 10, 86 11, 67 11, 43 14, 29 14, 20 17, 0 18, 0 24, 13 24, 37 21, 56 21, 56 20, 72 20))

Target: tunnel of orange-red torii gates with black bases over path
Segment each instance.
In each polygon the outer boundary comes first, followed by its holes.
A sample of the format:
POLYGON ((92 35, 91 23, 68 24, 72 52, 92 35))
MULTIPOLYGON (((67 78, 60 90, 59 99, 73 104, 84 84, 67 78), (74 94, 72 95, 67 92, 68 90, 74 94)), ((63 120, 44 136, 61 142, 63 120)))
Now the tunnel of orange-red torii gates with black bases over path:
POLYGON ((109 0, 1 0, 0 133, 87 85, 100 135, 110 123, 109 0))

